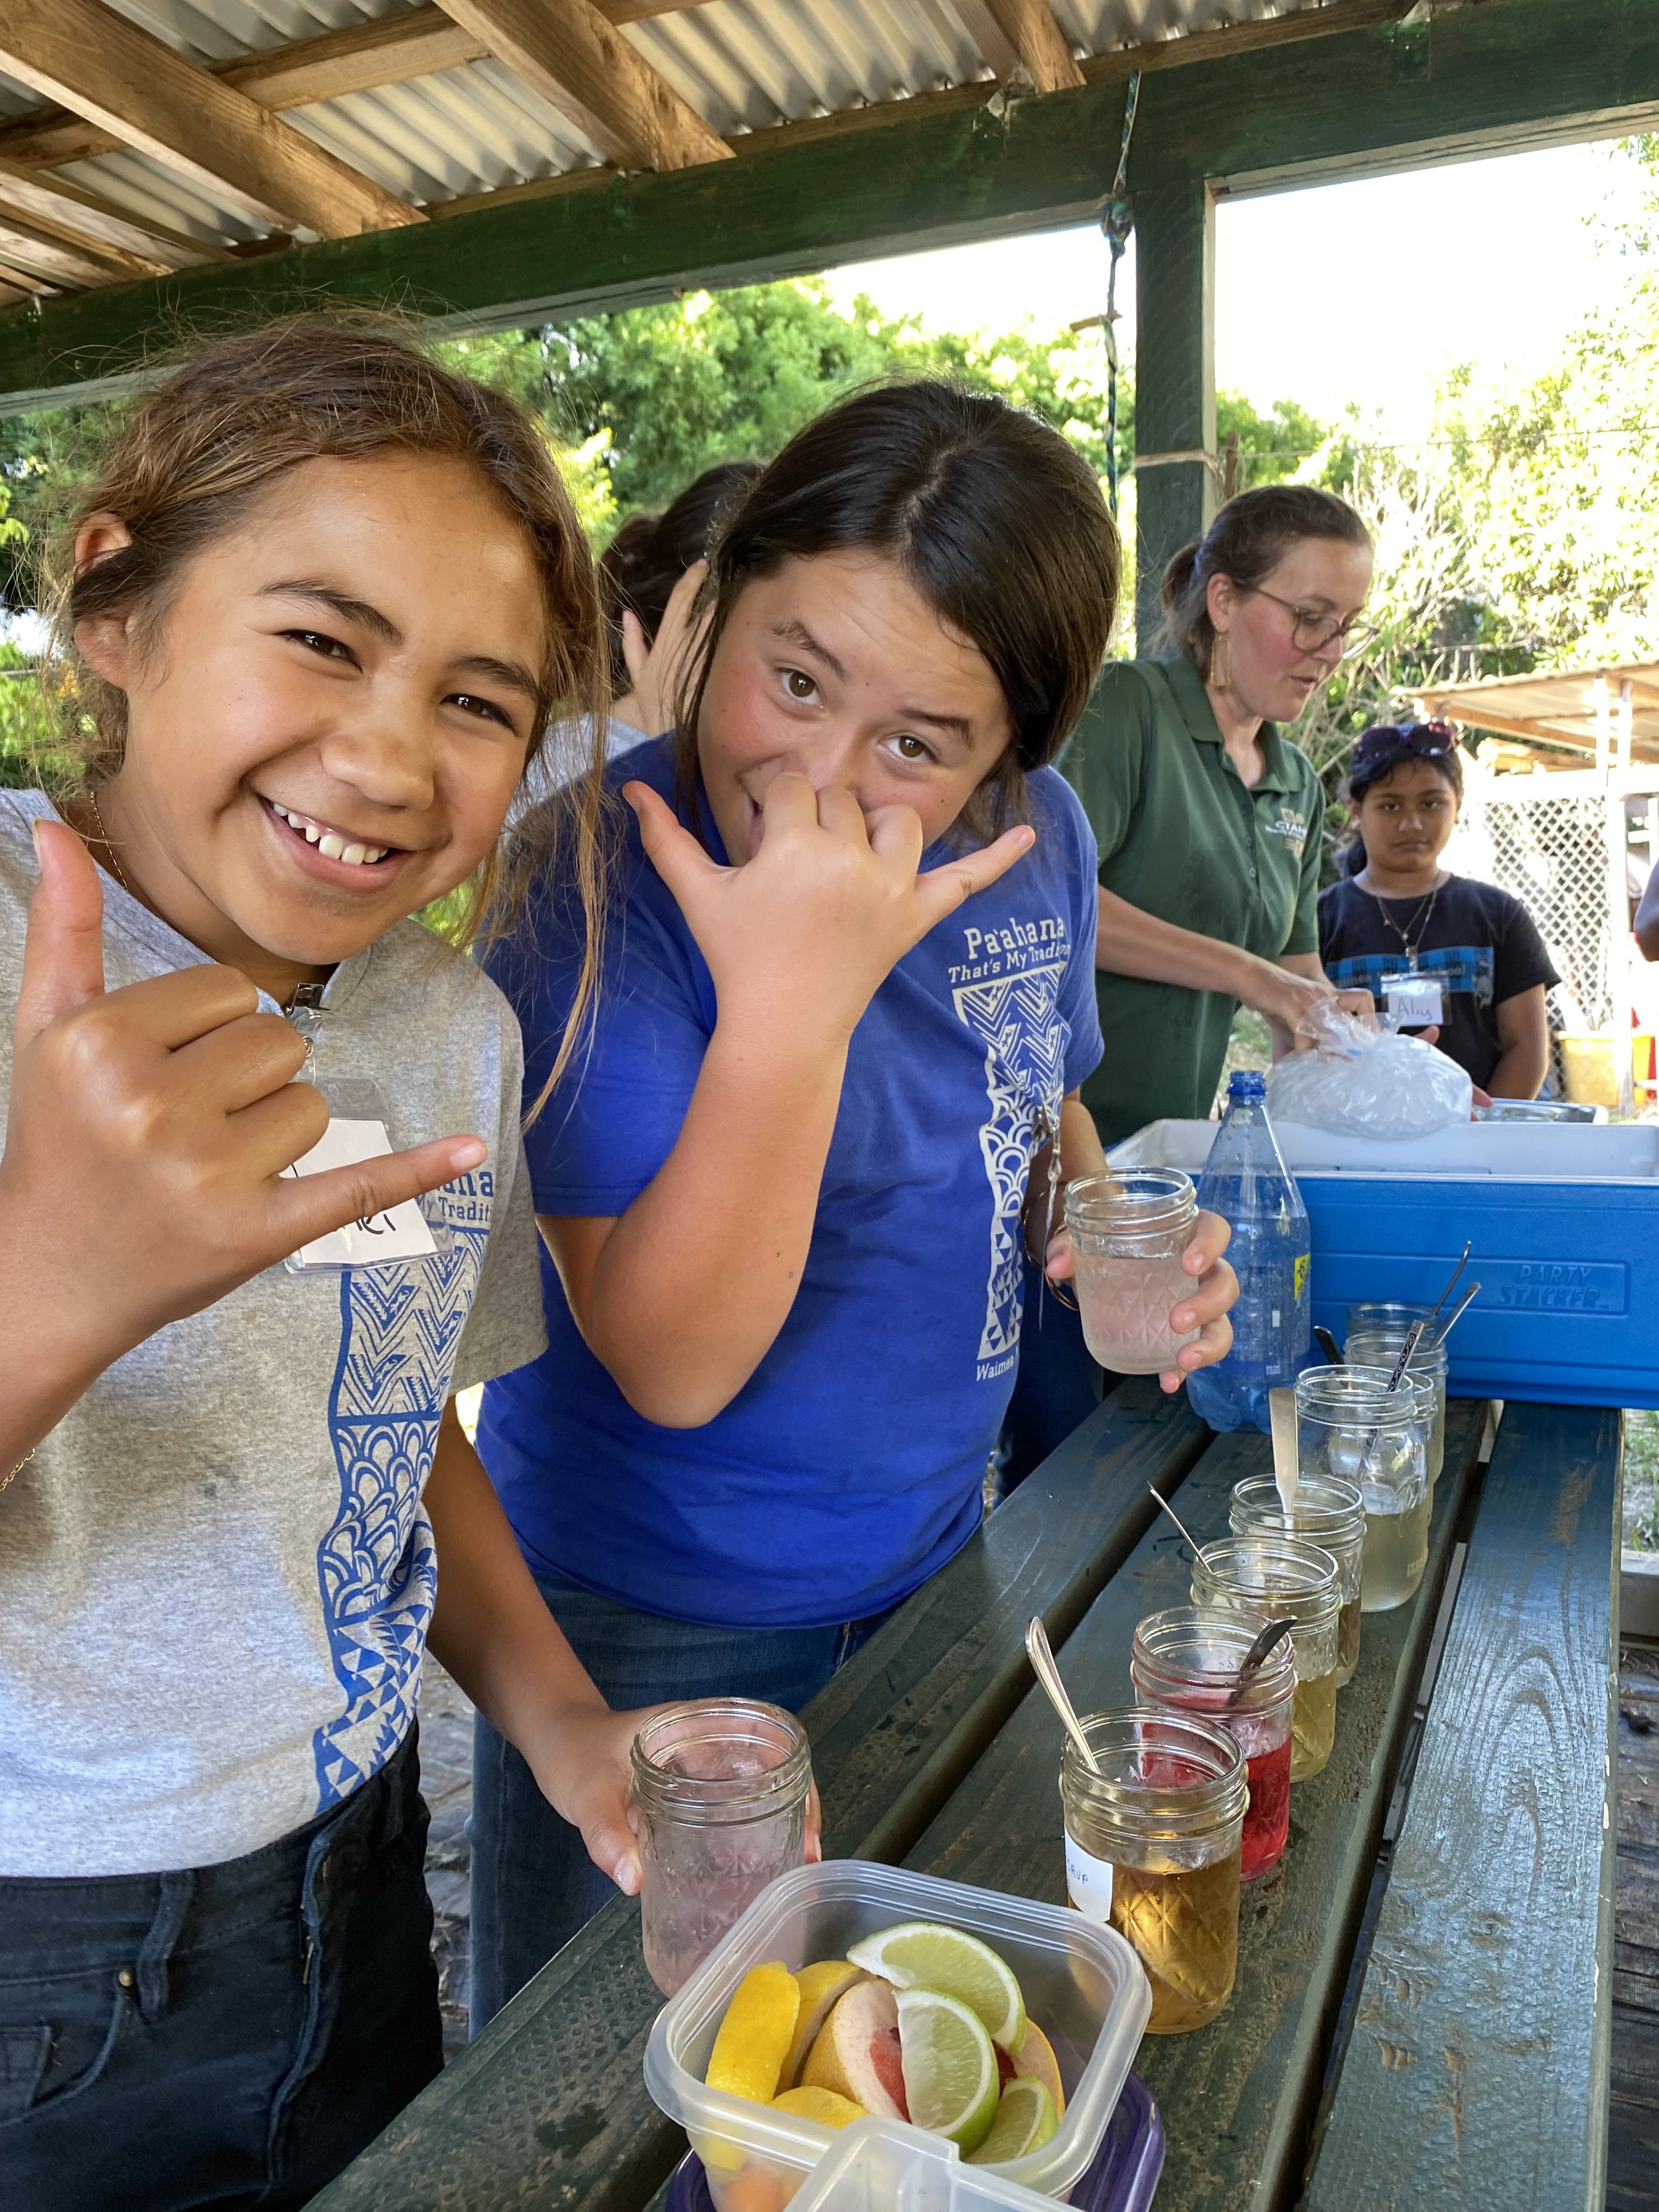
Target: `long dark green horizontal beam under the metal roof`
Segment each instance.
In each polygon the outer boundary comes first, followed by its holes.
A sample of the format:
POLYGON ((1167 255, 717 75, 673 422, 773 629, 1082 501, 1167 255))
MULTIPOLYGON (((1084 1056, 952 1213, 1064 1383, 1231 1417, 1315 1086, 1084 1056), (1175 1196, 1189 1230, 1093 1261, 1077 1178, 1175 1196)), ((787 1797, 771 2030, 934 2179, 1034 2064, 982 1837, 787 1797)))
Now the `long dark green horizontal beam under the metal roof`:
MULTIPOLYGON (((507 327, 1084 221, 1110 188, 1121 111, 1121 82, 1004 115, 918 100, 891 124, 794 144, 781 131, 776 148, 708 168, 597 173, 447 221, 13 307, 0 316, 0 409, 113 389, 181 327, 296 305, 376 301, 447 327, 507 327)), ((1482 0, 1150 73, 1130 186, 1254 190, 1655 117, 1652 0, 1482 0)))

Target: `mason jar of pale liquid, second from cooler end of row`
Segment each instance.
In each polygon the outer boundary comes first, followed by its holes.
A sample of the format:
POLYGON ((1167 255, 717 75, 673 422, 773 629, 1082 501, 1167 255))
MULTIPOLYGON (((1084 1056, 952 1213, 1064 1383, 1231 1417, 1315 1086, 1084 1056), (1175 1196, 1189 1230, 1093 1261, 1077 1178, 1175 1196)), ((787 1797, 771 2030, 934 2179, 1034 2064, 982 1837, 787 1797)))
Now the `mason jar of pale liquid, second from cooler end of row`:
POLYGON ((1429 1564, 1427 1376, 1396 1389, 1378 1367, 1314 1367, 1296 1378, 1296 1449, 1305 1469, 1354 1482, 1365 1504, 1360 1610, 1407 1604, 1429 1564))

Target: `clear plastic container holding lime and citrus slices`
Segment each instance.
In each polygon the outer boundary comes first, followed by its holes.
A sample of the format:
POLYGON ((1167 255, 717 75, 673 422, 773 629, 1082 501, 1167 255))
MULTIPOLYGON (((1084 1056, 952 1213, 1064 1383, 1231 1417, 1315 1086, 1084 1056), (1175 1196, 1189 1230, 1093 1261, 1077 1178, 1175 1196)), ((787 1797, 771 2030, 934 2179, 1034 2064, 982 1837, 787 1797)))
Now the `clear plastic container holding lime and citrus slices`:
POLYGON ((1064 1905, 1035 1905, 902 1867, 832 1858, 779 1876, 664 2006, 646 2044, 646 2088, 690 2135, 708 2168, 714 2212, 781 2212, 805 2177, 854 2132, 836 2135, 794 2112, 774 2112, 708 2088, 708 2055, 732 1991, 750 1966, 783 1960, 796 1969, 845 1958, 849 1944, 896 1920, 942 1920, 989 1942, 1020 1978, 1031 2017, 1055 2046, 1066 2088, 1066 2117, 1057 2132, 1024 2159, 971 2172, 1051 2199, 1064 2197, 1088 2172, 1152 2008, 1130 1944, 1064 1905))

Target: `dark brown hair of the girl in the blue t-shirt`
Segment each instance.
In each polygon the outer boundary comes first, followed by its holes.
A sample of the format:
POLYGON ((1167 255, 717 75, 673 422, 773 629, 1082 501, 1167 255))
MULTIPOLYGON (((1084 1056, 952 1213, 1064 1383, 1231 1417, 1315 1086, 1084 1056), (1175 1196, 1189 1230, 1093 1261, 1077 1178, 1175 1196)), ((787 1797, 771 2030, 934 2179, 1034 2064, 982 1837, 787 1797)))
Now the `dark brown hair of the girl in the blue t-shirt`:
POLYGON ((896 562, 1002 686, 1013 743, 960 816, 969 836, 995 836, 1020 818, 1026 772, 1055 759, 1106 659, 1119 555, 1093 471, 1035 416, 931 378, 856 392, 796 431, 712 555, 681 783, 743 586, 838 551, 896 562))

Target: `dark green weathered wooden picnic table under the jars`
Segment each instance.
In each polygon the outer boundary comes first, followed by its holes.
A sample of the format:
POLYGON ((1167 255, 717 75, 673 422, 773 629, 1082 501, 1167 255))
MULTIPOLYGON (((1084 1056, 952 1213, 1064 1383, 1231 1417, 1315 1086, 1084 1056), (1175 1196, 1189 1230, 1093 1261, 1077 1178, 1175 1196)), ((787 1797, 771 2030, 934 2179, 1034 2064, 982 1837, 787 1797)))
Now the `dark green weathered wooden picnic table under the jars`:
MULTIPOLYGON (((1267 1471, 1121 1385, 805 1712, 825 1854, 1064 1900, 1060 1723, 1130 1701, 1135 1621, 1267 1471)), ((1429 1568, 1367 1615, 1336 1752, 1245 1891, 1221 2017, 1148 2037, 1159 2212, 1599 2212, 1613 1964, 1621 1420, 1453 1400, 1429 1568), (1489 1449, 1489 1455, 1486 1455, 1489 1449)), ((327 2188, 316 2212, 641 2212, 686 2150, 641 2057, 661 2004, 617 1898, 327 2188)))

